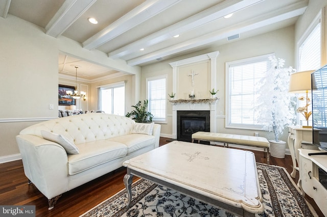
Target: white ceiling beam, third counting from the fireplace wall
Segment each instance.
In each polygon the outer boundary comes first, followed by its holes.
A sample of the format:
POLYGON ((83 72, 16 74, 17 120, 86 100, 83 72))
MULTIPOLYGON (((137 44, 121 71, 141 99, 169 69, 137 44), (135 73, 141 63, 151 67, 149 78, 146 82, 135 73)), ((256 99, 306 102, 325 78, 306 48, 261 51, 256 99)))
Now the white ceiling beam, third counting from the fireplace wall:
POLYGON ((143 4, 137 6, 118 20, 108 25, 96 35, 84 41, 83 47, 89 50, 95 49, 180 1, 181 0, 147 0, 143 4))

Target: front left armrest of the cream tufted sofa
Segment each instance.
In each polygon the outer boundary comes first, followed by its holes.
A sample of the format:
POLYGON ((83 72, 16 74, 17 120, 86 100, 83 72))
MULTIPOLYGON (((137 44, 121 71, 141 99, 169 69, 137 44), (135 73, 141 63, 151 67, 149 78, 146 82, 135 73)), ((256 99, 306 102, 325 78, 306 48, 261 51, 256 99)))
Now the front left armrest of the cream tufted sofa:
POLYGON ((68 191, 68 157, 64 148, 36 135, 17 135, 25 175, 48 199, 68 191))

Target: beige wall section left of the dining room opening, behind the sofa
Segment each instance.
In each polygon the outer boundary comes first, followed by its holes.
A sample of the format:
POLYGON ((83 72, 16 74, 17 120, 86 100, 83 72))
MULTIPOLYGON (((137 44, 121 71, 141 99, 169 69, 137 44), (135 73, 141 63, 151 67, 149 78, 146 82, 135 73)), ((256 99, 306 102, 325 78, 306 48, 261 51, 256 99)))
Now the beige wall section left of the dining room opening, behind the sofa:
POLYGON ((19 154, 15 135, 28 123, 58 117, 58 45, 38 26, 11 15, 0 19, 0 32, 2 157, 19 154))

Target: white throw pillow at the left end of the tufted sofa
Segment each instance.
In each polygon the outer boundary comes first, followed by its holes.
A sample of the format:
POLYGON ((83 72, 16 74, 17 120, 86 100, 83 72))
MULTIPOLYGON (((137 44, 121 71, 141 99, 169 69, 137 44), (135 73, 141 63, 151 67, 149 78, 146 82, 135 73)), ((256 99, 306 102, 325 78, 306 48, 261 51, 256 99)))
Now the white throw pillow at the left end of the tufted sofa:
POLYGON ((45 130, 41 130, 41 134, 43 139, 58 143, 61 145, 67 152, 67 154, 79 154, 80 151, 78 148, 75 146, 74 143, 69 141, 67 138, 63 137, 60 134, 54 133, 54 132, 49 132, 45 130))

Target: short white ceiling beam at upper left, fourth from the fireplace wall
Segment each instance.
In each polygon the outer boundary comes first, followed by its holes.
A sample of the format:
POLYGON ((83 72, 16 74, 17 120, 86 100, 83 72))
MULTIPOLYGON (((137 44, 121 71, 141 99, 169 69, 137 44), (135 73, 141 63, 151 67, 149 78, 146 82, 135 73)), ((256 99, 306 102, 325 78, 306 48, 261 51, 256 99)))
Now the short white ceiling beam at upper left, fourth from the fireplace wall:
POLYGON ((97 0, 66 0, 45 26, 45 34, 58 37, 97 0))

